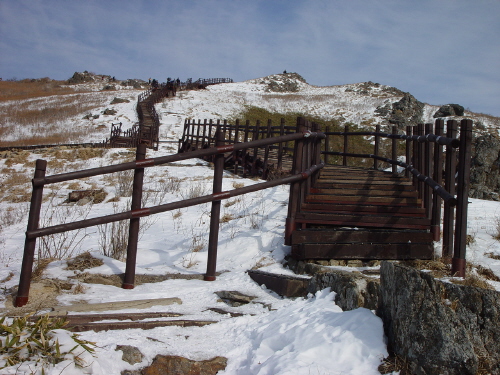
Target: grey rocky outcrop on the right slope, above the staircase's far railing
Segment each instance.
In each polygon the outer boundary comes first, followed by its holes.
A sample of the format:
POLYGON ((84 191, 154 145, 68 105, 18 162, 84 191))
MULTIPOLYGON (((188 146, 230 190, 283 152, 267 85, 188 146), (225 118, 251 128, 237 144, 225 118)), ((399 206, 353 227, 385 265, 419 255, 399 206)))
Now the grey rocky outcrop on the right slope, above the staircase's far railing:
POLYGON ((422 123, 424 103, 415 99, 410 93, 404 93, 401 100, 385 106, 379 106, 375 110, 379 116, 385 117, 390 124, 397 125, 400 129, 406 126, 415 126, 422 123))

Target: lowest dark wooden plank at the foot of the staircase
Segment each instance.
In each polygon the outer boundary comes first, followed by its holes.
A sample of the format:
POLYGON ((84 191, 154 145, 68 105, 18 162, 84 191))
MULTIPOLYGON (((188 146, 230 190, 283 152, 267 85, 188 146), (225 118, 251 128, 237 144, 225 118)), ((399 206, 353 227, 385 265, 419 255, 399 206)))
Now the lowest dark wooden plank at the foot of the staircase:
POLYGON ((432 259, 432 244, 301 244, 295 259, 432 259))

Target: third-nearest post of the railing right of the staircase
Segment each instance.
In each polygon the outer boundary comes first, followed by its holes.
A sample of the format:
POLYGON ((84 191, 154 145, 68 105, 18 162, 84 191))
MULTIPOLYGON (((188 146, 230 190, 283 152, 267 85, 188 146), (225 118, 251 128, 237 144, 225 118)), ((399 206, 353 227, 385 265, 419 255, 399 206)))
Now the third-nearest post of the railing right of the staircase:
MULTIPOLYGON (((435 124, 434 134, 440 137, 443 135, 444 121, 438 119, 435 124)), ((443 146, 438 142, 434 142, 434 173, 432 179, 438 185, 443 182, 443 146)), ((441 236, 441 198, 435 190, 432 192, 431 233, 433 240, 439 241, 441 236)))

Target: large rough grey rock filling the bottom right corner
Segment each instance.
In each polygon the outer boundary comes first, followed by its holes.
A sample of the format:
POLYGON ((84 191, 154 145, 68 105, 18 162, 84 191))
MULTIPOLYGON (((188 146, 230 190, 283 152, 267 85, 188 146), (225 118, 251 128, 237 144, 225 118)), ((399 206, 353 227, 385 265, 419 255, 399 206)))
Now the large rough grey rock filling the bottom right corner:
POLYGON ((389 349, 411 363, 413 374, 500 373, 497 291, 383 262, 378 314, 389 349))

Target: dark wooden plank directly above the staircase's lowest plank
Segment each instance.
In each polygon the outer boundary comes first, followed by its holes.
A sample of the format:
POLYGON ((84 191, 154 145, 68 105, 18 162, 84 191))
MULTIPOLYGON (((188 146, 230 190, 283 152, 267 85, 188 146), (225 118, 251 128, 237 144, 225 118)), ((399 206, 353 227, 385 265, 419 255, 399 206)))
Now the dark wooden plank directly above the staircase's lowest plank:
POLYGON ((292 233, 292 245, 301 243, 431 243, 429 232, 314 230, 302 229, 292 233))

